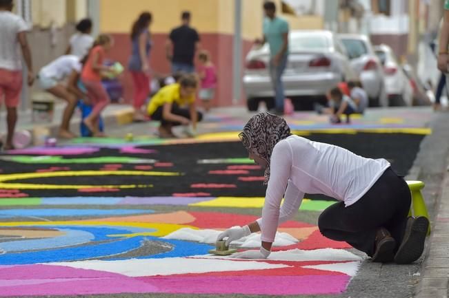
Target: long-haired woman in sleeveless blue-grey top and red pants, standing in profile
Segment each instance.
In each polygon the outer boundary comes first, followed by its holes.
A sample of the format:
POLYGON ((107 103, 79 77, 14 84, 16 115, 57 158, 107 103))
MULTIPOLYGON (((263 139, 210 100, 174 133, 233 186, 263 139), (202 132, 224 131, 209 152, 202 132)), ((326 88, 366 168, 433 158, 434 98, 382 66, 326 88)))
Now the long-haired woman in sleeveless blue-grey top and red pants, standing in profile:
POLYGON ((139 19, 134 22, 131 30, 132 52, 128 69, 134 81, 134 121, 143 121, 146 114, 142 107, 150 94, 150 63, 149 54, 151 48, 150 24, 152 15, 150 12, 142 12, 139 19))

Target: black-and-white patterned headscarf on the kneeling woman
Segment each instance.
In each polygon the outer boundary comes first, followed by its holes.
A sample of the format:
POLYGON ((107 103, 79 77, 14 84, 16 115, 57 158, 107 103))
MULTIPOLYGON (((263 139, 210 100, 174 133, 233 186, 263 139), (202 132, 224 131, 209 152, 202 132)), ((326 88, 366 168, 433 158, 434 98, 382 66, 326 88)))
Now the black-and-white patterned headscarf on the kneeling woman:
POLYGON ((291 135, 286 120, 268 112, 252 116, 239 134, 243 147, 257 153, 267 162, 263 184, 268 184, 270 179, 270 158, 273 148, 277 142, 291 135))

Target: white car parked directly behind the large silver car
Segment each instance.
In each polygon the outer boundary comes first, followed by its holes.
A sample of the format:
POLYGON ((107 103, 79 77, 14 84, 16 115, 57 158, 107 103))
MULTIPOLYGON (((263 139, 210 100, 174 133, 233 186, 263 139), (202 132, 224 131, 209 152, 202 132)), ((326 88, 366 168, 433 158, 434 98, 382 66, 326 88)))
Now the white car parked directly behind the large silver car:
POLYGON ((359 76, 359 81, 370 98, 370 106, 387 106, 383 67, 368 36, 339 34, 339 39, 348 52, 352 69, 359 76))

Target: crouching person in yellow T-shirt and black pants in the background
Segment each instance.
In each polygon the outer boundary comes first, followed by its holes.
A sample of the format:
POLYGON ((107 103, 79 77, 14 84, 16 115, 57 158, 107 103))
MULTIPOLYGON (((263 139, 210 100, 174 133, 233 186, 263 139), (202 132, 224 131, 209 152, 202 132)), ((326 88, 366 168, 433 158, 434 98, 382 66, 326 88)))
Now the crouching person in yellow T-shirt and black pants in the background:
POLYGON ((174 138, 172 127, 176 125, 187 127, 191 124, 193 131, 188 131, 189 134, 197 129, 197 122, 203 118, 195 105, 197 85, 196 76, 185 74, 179 78, 179 83, 163 87, 151 98, 148 115, 153 120, 161 121, 161 138, 174 138))

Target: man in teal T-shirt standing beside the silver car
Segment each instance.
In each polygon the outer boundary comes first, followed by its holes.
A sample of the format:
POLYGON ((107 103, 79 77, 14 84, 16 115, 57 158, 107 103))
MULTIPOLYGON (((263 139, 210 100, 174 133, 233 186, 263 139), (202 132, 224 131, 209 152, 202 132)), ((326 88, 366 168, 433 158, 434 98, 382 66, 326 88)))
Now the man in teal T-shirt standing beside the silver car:
POLYGON ((274 2, 263 3, 263 10, 266 18, 263 21, 263 41, 259 42, 270 45, 270 77, 275 89, 275 110, 272 112, 282 115, 285 96, 281 78, 288 58, 288 23, 277 17, 274 2))

